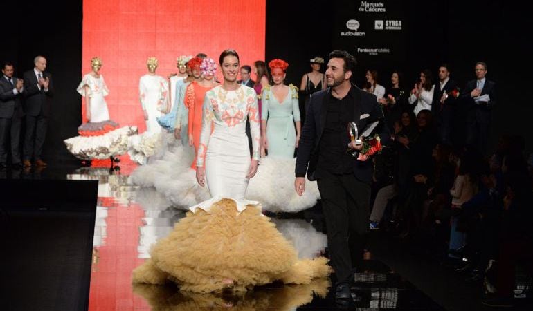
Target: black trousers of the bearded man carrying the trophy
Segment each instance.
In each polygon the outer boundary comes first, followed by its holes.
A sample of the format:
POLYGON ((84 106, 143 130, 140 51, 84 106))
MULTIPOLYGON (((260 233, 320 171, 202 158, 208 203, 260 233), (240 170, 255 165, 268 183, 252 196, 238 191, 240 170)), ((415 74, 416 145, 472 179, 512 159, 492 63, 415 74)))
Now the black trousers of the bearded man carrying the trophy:
POLYGON ((327 249, 338 283, 353 282, 368 234, 370 185, 354 174, 321 171, 317 179, 327 229, 327 249))

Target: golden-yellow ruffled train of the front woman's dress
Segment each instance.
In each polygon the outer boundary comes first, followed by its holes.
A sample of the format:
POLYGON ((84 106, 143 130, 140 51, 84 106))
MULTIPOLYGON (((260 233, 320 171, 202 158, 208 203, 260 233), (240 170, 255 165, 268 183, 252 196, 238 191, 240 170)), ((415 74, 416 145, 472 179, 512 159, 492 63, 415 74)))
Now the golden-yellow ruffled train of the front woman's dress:
POLYGON ((180 290, 215 292, 233 280, 244 291, 273 281, 309 284, 332 271, 326 258, 298 259, 296 250, 258 207, 240 214, 235 201, 223 199, 209 213, 197 209, 174 225, 133 271, 134 283, 174 281, 180 290))

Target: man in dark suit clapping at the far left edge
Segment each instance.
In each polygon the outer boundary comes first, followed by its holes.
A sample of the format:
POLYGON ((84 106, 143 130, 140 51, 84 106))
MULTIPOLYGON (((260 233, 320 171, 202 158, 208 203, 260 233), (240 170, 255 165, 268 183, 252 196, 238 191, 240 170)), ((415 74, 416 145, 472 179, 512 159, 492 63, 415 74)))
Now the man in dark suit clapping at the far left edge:
POLYGON ((0 78, 0 168, 6 167, 8 158, 8 135, 11 141, 11 164, 20 166, 20 126, 24 116, 21 95, 24 91, 22 79, 13 77, 13 65, 5 63, 0 78))

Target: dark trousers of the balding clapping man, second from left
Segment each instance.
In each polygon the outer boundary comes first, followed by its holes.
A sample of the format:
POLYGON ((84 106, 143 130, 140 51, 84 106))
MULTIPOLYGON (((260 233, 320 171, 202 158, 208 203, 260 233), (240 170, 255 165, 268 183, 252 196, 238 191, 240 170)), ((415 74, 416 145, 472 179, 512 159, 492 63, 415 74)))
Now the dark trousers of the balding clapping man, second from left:
POLYGON ((48 128, 48 117, 39 114, 37 116, 26 115, 26 135, 24 137, 24 149, 22 156, 24 160, 40 160, 46 129, 48 128))

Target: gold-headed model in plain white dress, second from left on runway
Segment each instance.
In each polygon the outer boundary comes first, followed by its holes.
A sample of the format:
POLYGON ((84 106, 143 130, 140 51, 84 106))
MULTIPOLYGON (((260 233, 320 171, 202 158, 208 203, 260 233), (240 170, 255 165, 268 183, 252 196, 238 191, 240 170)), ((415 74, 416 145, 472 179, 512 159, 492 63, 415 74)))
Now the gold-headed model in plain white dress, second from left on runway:
POLYGON ((168 112, 168 82, 164 77, 156 75, 157 59, 149 57, 146 62, 148 73, 139 79, 139 100, 143 108, 146 131, 157 134, 161 126, 157 117, 168 112))

